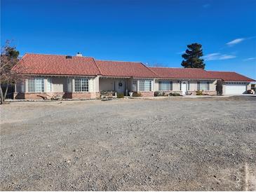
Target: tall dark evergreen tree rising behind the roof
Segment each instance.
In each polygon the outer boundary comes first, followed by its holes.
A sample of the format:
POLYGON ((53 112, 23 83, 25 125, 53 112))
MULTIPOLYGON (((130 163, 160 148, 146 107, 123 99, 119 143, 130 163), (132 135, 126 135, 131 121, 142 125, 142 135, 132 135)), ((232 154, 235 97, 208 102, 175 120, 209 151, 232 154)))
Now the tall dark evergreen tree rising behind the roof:
POLYGON ((192 43, 187 46, 186 53, 182 55, 184 60, 182 61, 182 66, 184 68, 202 68, 204 69, 206 64, 203 63, 203 50, 201 44, 192 43))

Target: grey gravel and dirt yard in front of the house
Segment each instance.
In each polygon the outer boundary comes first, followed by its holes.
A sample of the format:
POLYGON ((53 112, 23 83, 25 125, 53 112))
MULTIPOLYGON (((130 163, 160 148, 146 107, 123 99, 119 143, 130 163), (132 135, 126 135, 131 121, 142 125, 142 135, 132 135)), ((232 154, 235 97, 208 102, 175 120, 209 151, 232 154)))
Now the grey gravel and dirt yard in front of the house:
POLYGON ((256 97, 14 102, 1 190, 256 190, 256 97))

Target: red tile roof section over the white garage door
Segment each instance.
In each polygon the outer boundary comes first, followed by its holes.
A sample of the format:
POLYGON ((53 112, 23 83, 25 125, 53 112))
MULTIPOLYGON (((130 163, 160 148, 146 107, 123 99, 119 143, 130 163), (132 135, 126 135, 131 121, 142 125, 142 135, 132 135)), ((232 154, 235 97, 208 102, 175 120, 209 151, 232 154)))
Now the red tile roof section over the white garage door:
POLYGON ((208 71, 213 77, 221 78, 223 81, 255 81, 252 78, 237 74, 236 72, 227 71, 208 71))

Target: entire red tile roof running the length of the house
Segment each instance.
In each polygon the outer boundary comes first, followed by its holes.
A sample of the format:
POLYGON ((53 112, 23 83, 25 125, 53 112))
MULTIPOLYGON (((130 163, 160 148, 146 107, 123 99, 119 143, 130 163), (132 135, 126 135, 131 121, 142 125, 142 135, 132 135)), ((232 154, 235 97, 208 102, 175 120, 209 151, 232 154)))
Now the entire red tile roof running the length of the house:
POLYGON ((93 57, 66 58, 66 55, 26 53, 20 66, 13 67, 22 74, 72 76, 120 76, 135 78, 197 78, 224 81, 255 81, 235 72, 206 71, 191 68, 146 67, 141 62, 94 60, 93 57))

